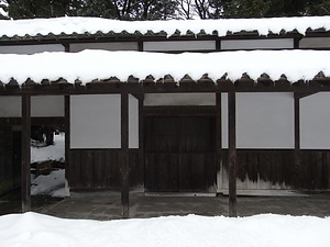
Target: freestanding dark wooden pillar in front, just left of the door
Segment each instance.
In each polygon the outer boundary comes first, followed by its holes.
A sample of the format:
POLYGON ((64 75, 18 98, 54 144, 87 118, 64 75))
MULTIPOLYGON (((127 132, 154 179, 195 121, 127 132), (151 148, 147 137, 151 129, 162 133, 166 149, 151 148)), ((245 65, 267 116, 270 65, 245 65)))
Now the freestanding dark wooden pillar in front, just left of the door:
POLYGON ((121 203, 122 217, 130 217, 129 184, 129 93, 121 93, 121 203))

